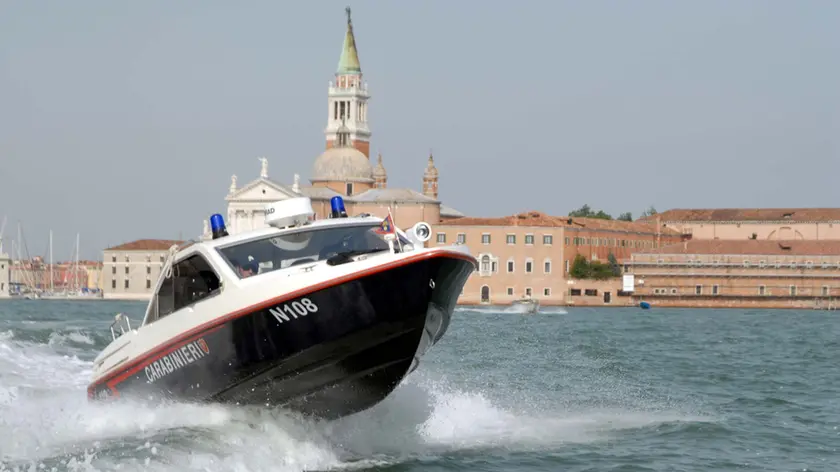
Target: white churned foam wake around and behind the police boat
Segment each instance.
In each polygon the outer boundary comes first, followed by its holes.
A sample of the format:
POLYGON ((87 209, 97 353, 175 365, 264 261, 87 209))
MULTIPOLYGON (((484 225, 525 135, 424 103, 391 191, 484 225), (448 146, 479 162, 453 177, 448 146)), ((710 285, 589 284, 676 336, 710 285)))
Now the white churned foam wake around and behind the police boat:
POLYGON ((369 468, 445 457, 558 450, 626 430, 708 422, 681 413, 501 406, 417 371, 371 410, 312 421, 281 409, 95 404, 89 361, 0 337, 0 471, 369 468), (34 469, 30 469, 34 468, 34 469))

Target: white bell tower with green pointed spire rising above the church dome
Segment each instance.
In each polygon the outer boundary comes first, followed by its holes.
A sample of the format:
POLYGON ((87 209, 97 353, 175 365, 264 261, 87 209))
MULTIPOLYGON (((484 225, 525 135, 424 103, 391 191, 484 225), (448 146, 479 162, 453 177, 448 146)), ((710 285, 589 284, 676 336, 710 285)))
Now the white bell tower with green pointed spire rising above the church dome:
POLYGON ((330 82, 327 92, 327 149, 334 146, 338 130, 342 125, 350 135, 350 145, 370 159, 370 128, 367 122, 367 103, 370 95, 367 84, 362 82, 362 66, 359 64, 359 51, 356 49, 356 37, 353 34, 353 22, 350 19, 350 7, 347 13, 347 32, 335 82, 330 82))

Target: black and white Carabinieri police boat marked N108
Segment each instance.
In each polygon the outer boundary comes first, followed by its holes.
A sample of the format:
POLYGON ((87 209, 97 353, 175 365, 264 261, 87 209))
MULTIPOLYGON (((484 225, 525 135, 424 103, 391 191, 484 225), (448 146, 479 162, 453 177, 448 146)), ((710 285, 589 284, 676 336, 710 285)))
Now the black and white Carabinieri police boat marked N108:
POLYGON ((174 247, 139 327, 119 314, 88 398, 279 406, 334 419, 377 404, 446 332, 477 261, 429 224, 348 217, 334 197, 265 208, 267 227, 174 247))

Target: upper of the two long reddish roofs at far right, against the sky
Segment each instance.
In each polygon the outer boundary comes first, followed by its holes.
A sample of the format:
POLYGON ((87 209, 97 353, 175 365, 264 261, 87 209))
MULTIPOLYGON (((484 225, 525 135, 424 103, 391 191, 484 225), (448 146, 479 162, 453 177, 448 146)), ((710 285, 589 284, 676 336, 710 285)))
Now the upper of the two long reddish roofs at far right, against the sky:
POLYGON ((675 208, 640 221, 840 221, 840 208, 675 208))

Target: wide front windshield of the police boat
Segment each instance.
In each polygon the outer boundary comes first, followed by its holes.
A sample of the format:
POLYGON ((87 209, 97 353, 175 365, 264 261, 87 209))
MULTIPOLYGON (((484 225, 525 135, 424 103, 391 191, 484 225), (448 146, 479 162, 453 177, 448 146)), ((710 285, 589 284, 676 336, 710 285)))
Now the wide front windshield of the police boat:
MULTIPOLYGON (((218 251, 239 278, 329 259, 388 250, 379 224, 340 225, 309 228, 279 236, 246 241, 218 251)), ((399 236, 400 242, 410 242, 399 236)), ((398 249, 399 245, 395 244, 398 249)))

